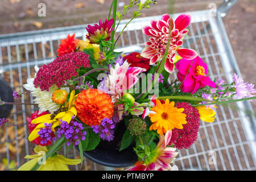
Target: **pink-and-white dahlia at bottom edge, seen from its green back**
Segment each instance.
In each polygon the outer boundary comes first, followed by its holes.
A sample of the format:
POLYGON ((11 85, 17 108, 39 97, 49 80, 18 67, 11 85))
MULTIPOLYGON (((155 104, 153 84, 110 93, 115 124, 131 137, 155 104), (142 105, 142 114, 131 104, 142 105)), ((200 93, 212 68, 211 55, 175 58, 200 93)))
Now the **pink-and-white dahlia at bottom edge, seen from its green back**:
MULTIPOLYGON (((143 164, 139 164, 129 171, 165 171, 171 170, 171 163, 177 156, 176 148, 166 147, 172 137, 172 131, 168 130, 166 135, 160 135, 159 142, 155 150, 151 151, 150 156, 143 160, 143 164)), ((176 167, 175 167, 176 169, 176 167)))

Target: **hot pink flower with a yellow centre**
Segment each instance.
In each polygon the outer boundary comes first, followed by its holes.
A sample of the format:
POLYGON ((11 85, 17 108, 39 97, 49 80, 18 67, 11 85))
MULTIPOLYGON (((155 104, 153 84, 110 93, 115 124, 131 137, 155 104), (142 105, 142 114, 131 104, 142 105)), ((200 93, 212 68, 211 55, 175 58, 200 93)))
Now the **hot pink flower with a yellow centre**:
POLYGON ((182 92, 193 94, 206 85, 216 88, 216 84, 210 80, 209 76, 206 76, 208 73, 207 64, 203 63, 199 56, 193 60, 181 59, 175 64, 175 67, 179 71, 177 78, 183 82, 180 86, 182 92))

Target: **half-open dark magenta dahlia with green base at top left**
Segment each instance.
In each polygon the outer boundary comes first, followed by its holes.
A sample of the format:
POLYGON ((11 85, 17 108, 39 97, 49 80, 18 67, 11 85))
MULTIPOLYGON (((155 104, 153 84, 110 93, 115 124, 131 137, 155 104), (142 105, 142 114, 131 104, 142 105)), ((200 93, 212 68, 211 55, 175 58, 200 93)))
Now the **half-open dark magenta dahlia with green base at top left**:
POLYGON ((106 19, 105 22, 102 22, 100 19, 99 24, 94 24, 94 26, 88 25, 86 30, 88 35, 86 39, 90 41, 91 44, 99 44, 102 40, 108 41, 110 39, 110 33, 114 30, 112 25, 114 19, 106 19))

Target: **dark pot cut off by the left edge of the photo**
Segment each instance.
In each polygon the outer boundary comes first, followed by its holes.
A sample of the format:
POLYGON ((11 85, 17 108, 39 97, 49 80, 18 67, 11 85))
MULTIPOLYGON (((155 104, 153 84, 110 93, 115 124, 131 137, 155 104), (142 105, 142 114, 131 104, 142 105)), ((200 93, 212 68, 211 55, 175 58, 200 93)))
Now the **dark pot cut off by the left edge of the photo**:
MULTIPOLYGON (((0 78, 0 98, 1 101, 14 102, 13 90, 3 78, 0 78)), ((9 117, 11 109, 13 109, 13 105, 0 105, 0 118, 9 117)))

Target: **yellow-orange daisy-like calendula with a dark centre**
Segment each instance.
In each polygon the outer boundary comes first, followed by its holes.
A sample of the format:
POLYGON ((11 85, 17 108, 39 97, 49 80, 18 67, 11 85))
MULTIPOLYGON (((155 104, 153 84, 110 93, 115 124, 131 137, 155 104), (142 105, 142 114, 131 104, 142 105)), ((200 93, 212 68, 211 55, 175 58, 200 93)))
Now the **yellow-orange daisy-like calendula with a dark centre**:
POLYGON ((152 122, 150 130, 157 130, 159 135, 163 135, 174 128, 183 129, 182 125, 187 123, 187 115, 182 113, 183 108, 178 109, 174 104, 175 102, 170 102, 168 99, 164 104, 156 100, 156 106, 152 107, 155 114, 148 114, 152 122))

